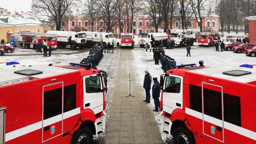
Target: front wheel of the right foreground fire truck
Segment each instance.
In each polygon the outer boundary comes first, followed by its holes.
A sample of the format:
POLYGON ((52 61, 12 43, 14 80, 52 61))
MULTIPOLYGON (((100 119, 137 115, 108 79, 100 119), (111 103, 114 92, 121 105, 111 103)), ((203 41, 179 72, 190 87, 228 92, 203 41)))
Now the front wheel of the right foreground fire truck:
POLYGON ((187 128, 176 127, 172 136, 175 144, 195 144, 194 136, 187 128))

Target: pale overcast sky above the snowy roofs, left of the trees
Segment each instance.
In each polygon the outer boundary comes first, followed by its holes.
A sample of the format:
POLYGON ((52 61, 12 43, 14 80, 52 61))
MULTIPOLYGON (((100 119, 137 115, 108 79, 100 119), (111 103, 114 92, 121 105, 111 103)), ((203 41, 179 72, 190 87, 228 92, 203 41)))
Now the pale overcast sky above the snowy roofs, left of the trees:
POLYGON ((31 0, 1 0, 0 6, 9 12, 31 11, 31 0), (3 3, 4 1, 4 3, 3 3))

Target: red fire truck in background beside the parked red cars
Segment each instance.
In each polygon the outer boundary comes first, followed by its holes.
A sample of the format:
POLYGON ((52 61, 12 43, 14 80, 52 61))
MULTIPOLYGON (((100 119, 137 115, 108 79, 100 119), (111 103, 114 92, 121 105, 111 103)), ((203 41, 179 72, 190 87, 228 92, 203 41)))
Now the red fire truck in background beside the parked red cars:
POLYGON ((218 41, 219 44, 221 40, 218 40, 218 36, 220 36, 217 32, 202 32, 198 35, 197 43, 199 46, 212 46, 212 42, 218 41))

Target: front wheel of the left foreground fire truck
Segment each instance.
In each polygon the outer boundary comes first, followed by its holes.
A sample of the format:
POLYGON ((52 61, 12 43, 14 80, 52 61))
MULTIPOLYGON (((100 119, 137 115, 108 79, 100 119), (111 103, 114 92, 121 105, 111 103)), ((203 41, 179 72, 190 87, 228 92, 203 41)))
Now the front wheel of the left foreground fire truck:
POLYGON ((88 127, 82 127, 74 133, 71 144, 91 144, 92 140, 92 130, 88 127))

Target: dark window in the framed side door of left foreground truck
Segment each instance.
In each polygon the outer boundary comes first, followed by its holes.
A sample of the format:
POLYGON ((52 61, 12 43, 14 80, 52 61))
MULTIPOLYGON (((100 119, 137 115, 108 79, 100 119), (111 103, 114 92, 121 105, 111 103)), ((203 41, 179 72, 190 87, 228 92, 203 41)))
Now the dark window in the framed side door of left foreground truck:
POLYGON ((44 120, 62 113, 62 88, 44 92, 44 120))

